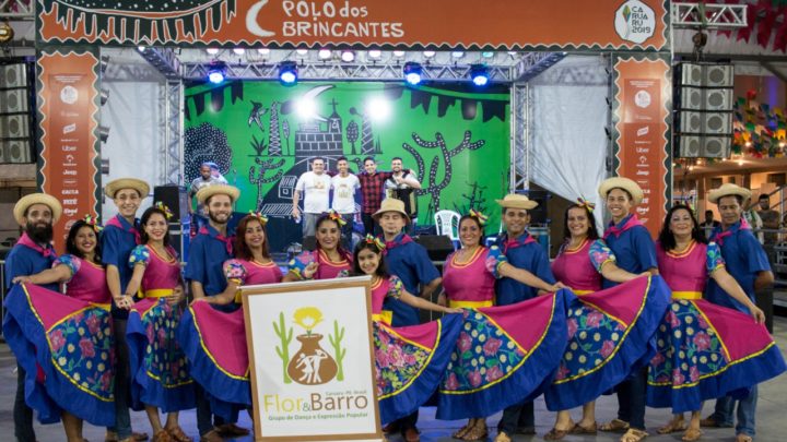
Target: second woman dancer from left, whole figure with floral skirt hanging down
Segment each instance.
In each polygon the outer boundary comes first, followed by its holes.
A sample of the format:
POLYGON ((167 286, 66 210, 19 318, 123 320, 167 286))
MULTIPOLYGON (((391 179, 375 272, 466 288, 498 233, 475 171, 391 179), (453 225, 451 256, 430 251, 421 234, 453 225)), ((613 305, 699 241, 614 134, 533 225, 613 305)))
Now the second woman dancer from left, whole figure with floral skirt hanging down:
POLYGON ((144 404, 153 441, 190 442, 178 425, 178 411, 195 407, 195 396, 188 361, 175 339, 185 294, 180 263, 169 246, 167 212, 158 203, 142 214, 142 246, 129 256, 133 274, 126 291, 139 295, 127 332, 131 395, 136 404, 144 404), (168 414, 164 427, 158 408, 168 414))

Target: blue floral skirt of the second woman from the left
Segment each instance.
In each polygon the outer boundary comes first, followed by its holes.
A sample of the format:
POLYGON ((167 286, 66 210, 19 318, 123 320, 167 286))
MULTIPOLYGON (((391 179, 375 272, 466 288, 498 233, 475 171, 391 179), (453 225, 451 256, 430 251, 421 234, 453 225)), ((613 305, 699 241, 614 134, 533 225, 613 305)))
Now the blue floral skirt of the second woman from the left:
POLYGON ((162 411, 193 408, 193 381, 188 360, 177 343, 181 311, 164 298, 145 298, 131 309, 126 328, 131 365, 131 402, 162 411))

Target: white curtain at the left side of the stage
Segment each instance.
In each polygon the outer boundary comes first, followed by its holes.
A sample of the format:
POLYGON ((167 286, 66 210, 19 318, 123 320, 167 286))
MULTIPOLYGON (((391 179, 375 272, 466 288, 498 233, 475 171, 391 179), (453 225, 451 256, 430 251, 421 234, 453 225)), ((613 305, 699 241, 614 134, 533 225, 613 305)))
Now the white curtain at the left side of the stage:
MULTIPOLYGON (((158 121, 165 118, 158 110, 161 85, 154 82, 104 82, 109 99, 102 107, 102 124, 109 127, 109 138, 102 145, 102 158, 109 159, 109 175, 102 175, 102 186, 122 177, 145 180, 151 187, 151 198, 142 201, 138 216, 153 204, 153 187, 157 186, 164 143, 158 121)), ((102 223, 117 214, 111 200, 106 199, 102 210, 102 223)))

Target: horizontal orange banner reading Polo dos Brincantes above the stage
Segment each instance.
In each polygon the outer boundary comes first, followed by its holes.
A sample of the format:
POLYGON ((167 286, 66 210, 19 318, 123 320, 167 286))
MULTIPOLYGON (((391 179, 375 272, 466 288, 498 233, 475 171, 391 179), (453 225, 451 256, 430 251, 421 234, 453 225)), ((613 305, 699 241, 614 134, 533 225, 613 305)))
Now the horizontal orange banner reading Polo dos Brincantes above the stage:
POLYGON ((166 46, 661 50, 665 0, 37 0, 37 39, 166 46))

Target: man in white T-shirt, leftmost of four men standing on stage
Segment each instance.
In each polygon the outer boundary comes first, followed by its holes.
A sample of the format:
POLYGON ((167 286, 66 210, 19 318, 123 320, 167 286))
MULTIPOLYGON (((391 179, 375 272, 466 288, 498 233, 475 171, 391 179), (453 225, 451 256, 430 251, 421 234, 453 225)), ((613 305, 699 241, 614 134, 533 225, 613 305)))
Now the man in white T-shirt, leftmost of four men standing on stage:
POLYGON ((304 238, 314 236, 317 218, 324 212, 328 212, 330 187, 331 179, 325 172, 325 160, 322 158, 313 158, 312 170, 301 175, 293 194, 292 216, 295 219, 302 219, 304 238), (304 196, 303 213, 298 207, 302 194, 304 196))

